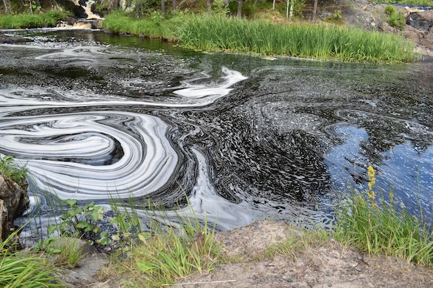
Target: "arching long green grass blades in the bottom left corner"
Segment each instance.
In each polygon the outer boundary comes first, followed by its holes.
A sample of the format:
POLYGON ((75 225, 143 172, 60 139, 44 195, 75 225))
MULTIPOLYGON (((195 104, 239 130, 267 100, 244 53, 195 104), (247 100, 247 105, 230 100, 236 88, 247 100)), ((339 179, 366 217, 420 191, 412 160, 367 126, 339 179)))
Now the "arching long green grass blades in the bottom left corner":
POLYGON ((58 280, 55 267, 47 263, 45 258, 22 252, 8 252, 7 243, 16 236, 16 232, 12 233, 0 243, 0 287, 65 287, 58 280))

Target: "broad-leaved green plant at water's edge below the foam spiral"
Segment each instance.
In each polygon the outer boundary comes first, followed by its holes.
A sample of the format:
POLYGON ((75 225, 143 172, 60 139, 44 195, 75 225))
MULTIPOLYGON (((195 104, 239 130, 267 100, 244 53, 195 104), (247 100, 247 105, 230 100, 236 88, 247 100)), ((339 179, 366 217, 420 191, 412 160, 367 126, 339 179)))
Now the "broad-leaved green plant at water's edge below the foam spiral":
POLYGON ((48 236, 58 232, 61 236, 95 238, 98 233, 96 222, 104 217, 104 209, 96 206, 93 201, 84 207, 78 207, 77 200, 73 199, 62 200, 62 202, 66 204, 68 210, 60 216, 62 222, 48 226, 48 236))

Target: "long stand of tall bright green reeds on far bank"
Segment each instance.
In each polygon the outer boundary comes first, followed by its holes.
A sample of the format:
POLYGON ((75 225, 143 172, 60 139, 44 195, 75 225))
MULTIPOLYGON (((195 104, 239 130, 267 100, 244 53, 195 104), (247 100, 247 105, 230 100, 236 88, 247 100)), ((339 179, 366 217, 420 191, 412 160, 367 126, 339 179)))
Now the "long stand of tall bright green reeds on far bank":
POLYGON ((413 44, 396 35, 358 28, 275 25, 220 15, 190 17, 181 26, 184 46, 259 55, 287 55, 344 61, 414 61, 413 44))

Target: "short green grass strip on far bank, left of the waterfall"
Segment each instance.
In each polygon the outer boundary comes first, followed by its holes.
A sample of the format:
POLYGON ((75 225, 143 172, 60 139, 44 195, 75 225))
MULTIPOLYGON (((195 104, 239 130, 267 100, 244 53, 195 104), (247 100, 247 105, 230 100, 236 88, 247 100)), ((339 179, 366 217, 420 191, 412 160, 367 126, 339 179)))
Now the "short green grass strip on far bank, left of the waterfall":
POLYGON ((40 28, 40 27, 55 27, 57 21, 62 20, 66 17, 64 12, 55 10, 49 10, 44 14, 33 14, 28 13, 17 14, 17 15, 1 15, 0 16, 0 28, 40 28))

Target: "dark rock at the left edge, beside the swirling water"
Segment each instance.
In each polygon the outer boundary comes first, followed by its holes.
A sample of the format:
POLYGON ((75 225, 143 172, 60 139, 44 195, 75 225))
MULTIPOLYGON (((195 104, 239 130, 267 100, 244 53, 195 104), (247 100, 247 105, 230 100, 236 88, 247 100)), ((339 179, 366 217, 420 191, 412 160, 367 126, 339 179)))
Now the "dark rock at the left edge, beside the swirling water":
POLYGON ((27 183, 21 186, 0 173, 0 240, 14 230, 14 220, 28 207, 27 183))

